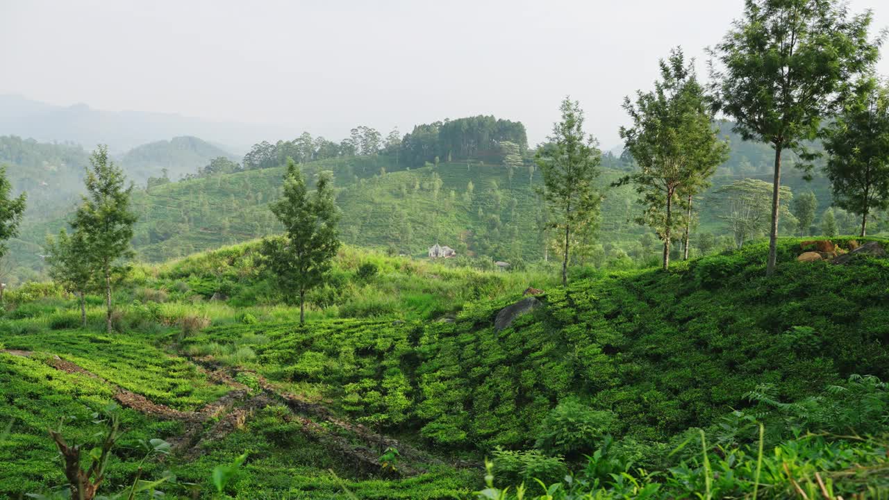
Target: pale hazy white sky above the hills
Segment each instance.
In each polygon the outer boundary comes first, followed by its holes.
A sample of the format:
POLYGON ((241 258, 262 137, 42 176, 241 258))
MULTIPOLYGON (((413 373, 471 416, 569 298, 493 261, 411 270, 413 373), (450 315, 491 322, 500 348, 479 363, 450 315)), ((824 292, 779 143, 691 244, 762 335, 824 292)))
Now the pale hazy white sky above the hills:
MULTIPOLYGON (((889 2, 872 8, 889 24, 889 2)), ((0 93, 292 126, 339 140, 445 117, 518 119, 536 143, 565 94, 611 148, 624 95, 682 45, 705 73, 741 0, 0 0, 0 93)), ((884 58, 880 70, 889 74, 884 58)), ((282 138, 268 138, 271 140, 282 138)))

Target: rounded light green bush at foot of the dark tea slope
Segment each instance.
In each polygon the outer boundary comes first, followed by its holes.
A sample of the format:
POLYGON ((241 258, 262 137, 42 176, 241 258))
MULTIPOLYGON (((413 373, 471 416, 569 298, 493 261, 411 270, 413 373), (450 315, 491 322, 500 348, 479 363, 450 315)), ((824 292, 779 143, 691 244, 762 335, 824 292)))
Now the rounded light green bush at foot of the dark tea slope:
POLYGON ((614 414, 594 410, 568 399, 549 411, 541 422, 535 448, 549 455, 578 458, 597 448, 597 441, 612 431, 614 414))

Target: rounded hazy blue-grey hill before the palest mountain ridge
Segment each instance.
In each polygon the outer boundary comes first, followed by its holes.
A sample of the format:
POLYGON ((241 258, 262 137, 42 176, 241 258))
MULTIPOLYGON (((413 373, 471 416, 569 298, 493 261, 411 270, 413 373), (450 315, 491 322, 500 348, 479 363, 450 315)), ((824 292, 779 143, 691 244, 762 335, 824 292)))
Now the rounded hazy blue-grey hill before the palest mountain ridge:
POLYGON ((171 179, 179 179, 187 173, 196 173, 215 157, 228 157, 238 162, 241 159, 210 142, 182 136, 143 144, 130 149, 117 161, 133 181, 141 183, 148 177, 160 177, 164 169, 171 179))

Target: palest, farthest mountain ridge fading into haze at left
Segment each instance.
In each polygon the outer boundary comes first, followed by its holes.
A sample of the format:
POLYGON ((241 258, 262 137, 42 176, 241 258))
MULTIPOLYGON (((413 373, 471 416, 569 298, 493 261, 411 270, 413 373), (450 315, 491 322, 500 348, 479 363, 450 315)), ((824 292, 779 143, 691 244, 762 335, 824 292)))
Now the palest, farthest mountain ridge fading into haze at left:
POLYGON ((197 135, 243 153, 258 141, 296 137, 280 125, 216 123, 195 117, 142 111, 105 111, 86 104, 56 106, 20 95, 0 95, 0 135, 43 142, 76 142, 84 149, 108 144, 118 154, 140 144, 180 135, 197 135))

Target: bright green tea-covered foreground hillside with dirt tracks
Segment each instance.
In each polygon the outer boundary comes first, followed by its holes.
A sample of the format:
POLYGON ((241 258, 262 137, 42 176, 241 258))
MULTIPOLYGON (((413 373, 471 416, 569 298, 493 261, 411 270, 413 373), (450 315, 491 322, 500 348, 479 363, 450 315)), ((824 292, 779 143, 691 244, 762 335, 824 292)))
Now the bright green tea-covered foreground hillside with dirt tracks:
MULTIPOLYGON (((756 461, 753 422, 783 453, 766 456, 766 470, 784 467, 813 485, 821 472, 843 496, 889 488, 877 472, 889 466, 882 441, 836 435, 887 431, 885 384, 850 379, 889 376, 885 258, 796 262, 799 240, 782 240, 772 278, 757 244, 670 273, 575 277, 563 290, 533 274, 347 248, 334 274, 348 294, 299 327, 282 297, 260 293, 251 248, 136 270, 116 296, 125 305, 115 335, 98 333, 99 297, 83 329, 75 302, 51 287, 11 293, 0 323, 0 421, 12 419, 12 446, 0 448, 0 478, 15 480, 0 480, 0 497, 60 482, 47 426, 76 415, 65 432, 86 439, 100 428, 90 413, 112 400, 128 432, 108 491, 132 482, 140 455, 128 450, 157 437, 172 451, 143 472, 170 468, 206 497, 212 467, 245 450, 228 496, 346 498, 345 486, 359 498, 469 498, 483 487, 483 456, 493 454, 499 482, 558 481, 593 452, 578 488, 602 488, 600 498, 633 491, 614 470, 656 498, 691 495, 716 470, 724 479, 708 487, 714 497, 742 496, 756 461), (378 273, 359 276, 362 262, 378 273), (525 284, 545 288, 541 307, 495 330, 493 317, 525 284), (373 289, 396 307, 353 315, 373 289), (217 293, 223 302, 207 300, 217 293), (424 309, 430 300, 438 305, 424 309), (563 418, 590 427, 548 437, 563 418), (714 443, 704 447, 710 464, 695 428, 714 443), (400 452, 395 471, 380 465, 384 448, 400 452), (875 473, 845 473, 855 468, 875 473)), ((783 473, 760 480, 762 497, 795 488, 783 473)))

